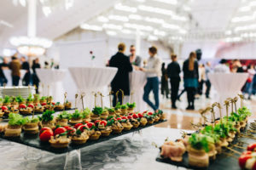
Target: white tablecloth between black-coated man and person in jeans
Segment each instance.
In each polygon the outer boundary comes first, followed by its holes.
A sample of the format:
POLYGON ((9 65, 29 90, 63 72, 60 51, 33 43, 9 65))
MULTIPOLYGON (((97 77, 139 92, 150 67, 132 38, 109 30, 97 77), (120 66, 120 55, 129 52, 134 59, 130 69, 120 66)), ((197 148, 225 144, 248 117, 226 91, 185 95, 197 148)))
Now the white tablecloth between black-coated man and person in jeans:
POLYGON ((146 111, 147 104, 143 101, 144 85, 147 82, 143 71, 132 71, 130 73, 130 88, 133 92, 132 101, 136 103, 135 111, 146 111))

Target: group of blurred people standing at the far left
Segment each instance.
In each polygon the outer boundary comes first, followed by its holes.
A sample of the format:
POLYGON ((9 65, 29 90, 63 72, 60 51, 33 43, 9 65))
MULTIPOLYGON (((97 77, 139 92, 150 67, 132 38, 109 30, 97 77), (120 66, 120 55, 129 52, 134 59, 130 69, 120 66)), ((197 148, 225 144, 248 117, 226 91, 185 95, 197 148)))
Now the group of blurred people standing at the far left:
POLYGON ((4 70, 10 70, 13 86, 19 86, 21 79, 23 86, 36 86, 36 91, 38 93, 39 79, 36 72, 37 68, 41 68, 38 58, 32 60, 32 67, 30 67, 30 63, 24 56, 20 57, 20 59, 16 56, 12 56, 10 62, 9 58, 3 58, 3 63, 0 64, 0 85, 4 86, 7 84, 8 79, 4 75, 4 70), (25 71, 24 77, 21 77, 20 70, 25 71))

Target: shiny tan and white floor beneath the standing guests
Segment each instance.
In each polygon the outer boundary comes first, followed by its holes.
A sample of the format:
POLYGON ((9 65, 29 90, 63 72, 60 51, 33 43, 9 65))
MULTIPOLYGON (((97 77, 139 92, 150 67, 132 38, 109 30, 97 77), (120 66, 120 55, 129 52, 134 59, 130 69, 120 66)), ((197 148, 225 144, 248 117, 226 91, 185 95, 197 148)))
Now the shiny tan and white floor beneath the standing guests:
MULTIPOLYGON (((196 124, 203 122, 199 110, 206 108, 207 105, 211 105, 214 102, 214 99, 216 99, 216 94, 212 94, 212 96, 212 99, 206 99, 204 95, 197 96, 197 99, 195 99, 195 111, 185 110, 187 107, 186 94, 183 94, 181 101, 177 101, 178 109, 176 110, 171 109, 171 99, 161 99, 160 109, 166 113, 167 122, 161 123, 156 127, 193 130, 194 128, 191 126, 192 123, 196 124)), ((256 97, 253 96, 252 100, 244 100, 244 105, 246 105, 253 113, 250 118, 255 119, 256 97)))

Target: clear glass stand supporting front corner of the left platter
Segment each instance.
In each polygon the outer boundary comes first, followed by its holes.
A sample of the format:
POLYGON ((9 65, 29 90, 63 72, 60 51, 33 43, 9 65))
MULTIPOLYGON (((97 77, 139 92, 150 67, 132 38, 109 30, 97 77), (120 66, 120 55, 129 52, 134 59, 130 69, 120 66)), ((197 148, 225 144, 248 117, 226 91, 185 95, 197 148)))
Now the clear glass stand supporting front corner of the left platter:
POLYGON ((64 170, 82 170, 80 150, 67 152, 64 170))

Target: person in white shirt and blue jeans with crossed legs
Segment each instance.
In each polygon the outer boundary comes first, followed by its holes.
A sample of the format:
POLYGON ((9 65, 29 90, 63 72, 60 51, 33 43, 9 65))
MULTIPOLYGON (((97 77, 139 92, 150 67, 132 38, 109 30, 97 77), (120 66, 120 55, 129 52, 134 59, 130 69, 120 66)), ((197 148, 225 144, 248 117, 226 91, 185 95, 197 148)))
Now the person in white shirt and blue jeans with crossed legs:
POLYGON ((155 111, 159 110, 159 77, 161 76, 161 61, 157 56, 157 48, 152 46, 148 48, 148 65, 145 68, 140 68, 146 72, 147 83, 144 86, 143 100, 155 111), (153 91, 154 104, 149 100, 149 94, 153 91))

